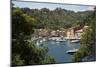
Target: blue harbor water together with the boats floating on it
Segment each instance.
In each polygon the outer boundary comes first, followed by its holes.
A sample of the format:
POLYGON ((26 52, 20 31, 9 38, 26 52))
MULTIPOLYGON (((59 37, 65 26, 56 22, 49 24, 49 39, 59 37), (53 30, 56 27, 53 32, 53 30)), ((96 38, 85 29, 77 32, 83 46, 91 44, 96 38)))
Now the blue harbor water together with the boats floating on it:
POLYGON ((56 63, 72 62, 73 53, 80 48, 80 42, 71 42, 72 39, 64 39, 61 37, 52 37, 49 39, 41 38, 37 40, 38 47, 47 47, 48 56, 55 59, 56 63))

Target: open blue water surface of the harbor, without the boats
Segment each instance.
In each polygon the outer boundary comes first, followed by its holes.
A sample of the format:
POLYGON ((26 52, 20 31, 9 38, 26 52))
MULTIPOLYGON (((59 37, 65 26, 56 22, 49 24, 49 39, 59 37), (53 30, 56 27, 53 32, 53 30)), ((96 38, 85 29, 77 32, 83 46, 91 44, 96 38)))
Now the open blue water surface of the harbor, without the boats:
POLYGON ((73 54, 68 54, 66 51, 79 49, 80 43, 72 43, 70 40, 66 41, 46 41, 43 42, 48 47, 48 56, 52 56, 56 63, 72 62, 73 54))

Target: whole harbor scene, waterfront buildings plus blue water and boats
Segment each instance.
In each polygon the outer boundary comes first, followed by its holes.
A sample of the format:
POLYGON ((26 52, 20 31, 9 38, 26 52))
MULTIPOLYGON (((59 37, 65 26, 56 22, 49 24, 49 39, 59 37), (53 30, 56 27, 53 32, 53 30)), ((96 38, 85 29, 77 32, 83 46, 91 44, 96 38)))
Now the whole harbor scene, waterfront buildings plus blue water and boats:
POLYGON ((31 41, 38 48, 47 47, 47 55, 53 57, 55 63, 69 63, 73 62, 74 53, 79 51, 81 34, 87 27, 77 25, 67 30, 36 29, 31 41))

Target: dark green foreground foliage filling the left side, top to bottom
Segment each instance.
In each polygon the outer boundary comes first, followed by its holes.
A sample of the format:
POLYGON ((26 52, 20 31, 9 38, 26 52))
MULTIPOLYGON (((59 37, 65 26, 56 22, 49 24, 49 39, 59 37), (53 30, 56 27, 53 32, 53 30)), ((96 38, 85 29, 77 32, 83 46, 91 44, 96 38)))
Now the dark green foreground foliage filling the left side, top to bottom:
MULTIPOLYGON (((30 42, 30 35, 34 32, 37 20, 30 17, 20 8, 12 10, 12 65, 46 64, 48 49, 37 48, 30 42), (45 62, 43 63, 43 61, 45 62)), ((48 63, 53 63, 49 58, 48 63)))

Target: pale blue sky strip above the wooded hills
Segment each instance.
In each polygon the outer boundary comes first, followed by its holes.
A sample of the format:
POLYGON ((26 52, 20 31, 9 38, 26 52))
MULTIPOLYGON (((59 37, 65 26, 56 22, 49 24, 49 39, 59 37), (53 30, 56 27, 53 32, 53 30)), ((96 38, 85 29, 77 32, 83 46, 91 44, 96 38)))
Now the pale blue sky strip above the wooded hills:
POLYGON ((40 2, 25 2, 25 1, 12 1, 14 3, 14 7, 25 8, 28 7, 30 9, 41 9, 48 8, 50 10, 54 10, 55 8, 62 8, 66 10, 73 10, 75 12, 78 11, 87 11, 93 10, 94 5, 75 5, 75 4, 58 4, 58 3, 40 3, 40 2))

